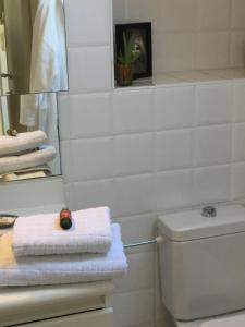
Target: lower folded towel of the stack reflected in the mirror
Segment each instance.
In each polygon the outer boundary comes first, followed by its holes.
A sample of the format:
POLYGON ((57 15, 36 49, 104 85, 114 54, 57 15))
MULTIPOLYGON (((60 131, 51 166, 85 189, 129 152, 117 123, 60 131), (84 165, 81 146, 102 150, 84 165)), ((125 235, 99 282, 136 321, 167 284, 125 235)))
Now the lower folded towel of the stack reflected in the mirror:
POLYGON ((2 157, 0 158, 0 174, 47 164, 53 160, 56 155, 56 148, 47 146, 21 156, 2 157))

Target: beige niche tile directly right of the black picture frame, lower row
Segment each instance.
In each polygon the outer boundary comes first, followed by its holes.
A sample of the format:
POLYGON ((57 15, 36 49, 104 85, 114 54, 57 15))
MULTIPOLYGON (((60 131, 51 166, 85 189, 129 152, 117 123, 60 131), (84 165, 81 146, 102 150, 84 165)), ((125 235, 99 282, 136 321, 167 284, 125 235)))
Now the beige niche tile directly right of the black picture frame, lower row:
POLYGON ((154 62, 157 72, 194 70, 196 33, 162 33, 154 38, 154 62))

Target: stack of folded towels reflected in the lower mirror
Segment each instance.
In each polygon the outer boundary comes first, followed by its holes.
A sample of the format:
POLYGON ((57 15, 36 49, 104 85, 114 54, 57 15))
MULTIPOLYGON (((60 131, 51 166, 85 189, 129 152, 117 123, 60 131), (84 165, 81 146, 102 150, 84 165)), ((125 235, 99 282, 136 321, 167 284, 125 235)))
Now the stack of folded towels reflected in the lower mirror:
POLYGON ((45 171, 44 165, 56 157, 54 147, 47 145, 47 142, 42 131, 0 136, 0 175, 45 171))

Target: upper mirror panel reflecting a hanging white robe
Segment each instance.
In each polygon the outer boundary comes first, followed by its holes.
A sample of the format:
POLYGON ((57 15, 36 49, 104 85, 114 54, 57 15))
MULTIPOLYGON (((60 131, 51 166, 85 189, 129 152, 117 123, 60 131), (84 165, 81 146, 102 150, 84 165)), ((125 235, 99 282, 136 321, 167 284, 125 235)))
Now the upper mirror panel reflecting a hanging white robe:
POLYGON ((0 95, 68 90, 63 0, 0 0, 0 95))

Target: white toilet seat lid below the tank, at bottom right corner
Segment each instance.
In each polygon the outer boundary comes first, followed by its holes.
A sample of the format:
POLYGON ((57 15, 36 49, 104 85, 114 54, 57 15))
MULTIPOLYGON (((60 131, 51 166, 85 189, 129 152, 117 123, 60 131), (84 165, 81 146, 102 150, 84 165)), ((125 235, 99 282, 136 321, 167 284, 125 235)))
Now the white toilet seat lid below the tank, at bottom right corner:
POLYGON ((175 322, 176 327, 244 327, 245 311, 195 322, 175 322))

